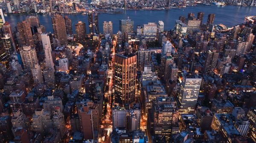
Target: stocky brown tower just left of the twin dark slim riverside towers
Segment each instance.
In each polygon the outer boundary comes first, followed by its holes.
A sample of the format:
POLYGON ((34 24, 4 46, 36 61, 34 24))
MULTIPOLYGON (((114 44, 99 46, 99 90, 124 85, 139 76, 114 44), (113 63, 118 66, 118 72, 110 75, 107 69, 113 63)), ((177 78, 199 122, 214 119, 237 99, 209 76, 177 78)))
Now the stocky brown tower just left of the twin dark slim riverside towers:
POLYGON ((78 23, 75 24, 76 27, 76 39, 78 41, 84 41, 86 37, 86 27, 85 27, 85 22, 79 21, 78 23))

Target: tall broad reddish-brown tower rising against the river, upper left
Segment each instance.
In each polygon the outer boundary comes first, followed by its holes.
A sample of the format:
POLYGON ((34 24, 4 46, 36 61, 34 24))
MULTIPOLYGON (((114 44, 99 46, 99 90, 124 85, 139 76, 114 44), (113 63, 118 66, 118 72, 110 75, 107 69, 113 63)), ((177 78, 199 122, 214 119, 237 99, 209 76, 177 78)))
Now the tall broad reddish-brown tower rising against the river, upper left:
POLYGON ((55 39, 58 39, 58 45, 67 44, 67 31, 64 18, 59 14, 52 17, 52 28, 55 39))

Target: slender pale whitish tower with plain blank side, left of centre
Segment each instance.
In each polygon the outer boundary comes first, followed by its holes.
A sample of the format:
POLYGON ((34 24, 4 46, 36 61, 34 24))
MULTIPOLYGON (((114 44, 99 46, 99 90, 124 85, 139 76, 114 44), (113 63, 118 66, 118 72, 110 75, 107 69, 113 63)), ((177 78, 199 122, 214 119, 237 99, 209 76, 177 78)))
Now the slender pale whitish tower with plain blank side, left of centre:
POLYGON ((54 70, 50 36, 47 33, 43 33, 41 34, 41 39, 42 39, 42 45, 44 48, 46 68, 52 68, 54 70))

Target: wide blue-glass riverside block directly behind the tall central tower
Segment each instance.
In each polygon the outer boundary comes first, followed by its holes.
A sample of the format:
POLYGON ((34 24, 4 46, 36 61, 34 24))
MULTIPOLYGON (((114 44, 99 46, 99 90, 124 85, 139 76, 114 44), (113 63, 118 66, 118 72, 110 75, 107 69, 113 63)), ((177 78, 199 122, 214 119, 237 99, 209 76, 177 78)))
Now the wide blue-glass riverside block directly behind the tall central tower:
POLYGON ((122 32, 122 34, 125 33, 133 33, 134 28, 134 21, 133 20, 119 20, 119 31, 122 32))

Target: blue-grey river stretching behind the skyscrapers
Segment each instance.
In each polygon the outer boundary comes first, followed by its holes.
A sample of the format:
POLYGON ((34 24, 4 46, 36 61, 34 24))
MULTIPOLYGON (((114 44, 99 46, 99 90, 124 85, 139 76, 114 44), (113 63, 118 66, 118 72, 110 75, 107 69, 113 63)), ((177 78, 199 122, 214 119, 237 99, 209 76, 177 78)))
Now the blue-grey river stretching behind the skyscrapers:
MULTIPOLYGON (((204 22, 207 21, 208 14, 215 14, 214 24, 224 24, 227 27, 244 22, 244 17, 256 15, 256 7, 241 7, 241 6, 199 6, 188 7, 184 9, 171 9, 162 11, 134 11, 126 10, 123 14, 99 14, 99 30, 102 32, 102 22, 113 22, 113 33, 119 30, 119 20, 127 19, 129 17, 134 20, 134 28, 136 25, 143 25, 148 22, 157 22, 163 20, 164 30, 170 30, 174 28, 175 20, 179 16, 183 15, 187 17, 188 13, 194 13, 195 15, 203 11, 204 22)), ((25 20, 27 15, 8 15, 5 20, 11 23, 12 27, 16 26, 17 22, 25 20)), ((72 20, 73 32, 75 32, 75 23, 78 21, 86 22, 86 31, 88 33, 88 19, 87 15, 68 15, 72 20)), ((52 32, 52 21, 50 15, 38 15, 41 25, 46 27, 47 31, 52 32)))

